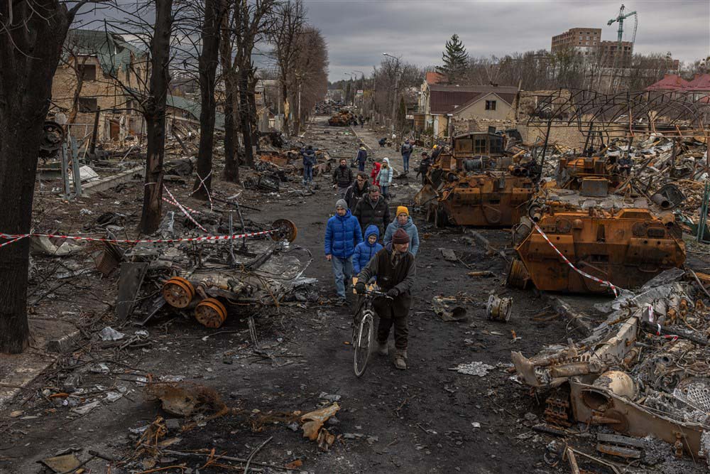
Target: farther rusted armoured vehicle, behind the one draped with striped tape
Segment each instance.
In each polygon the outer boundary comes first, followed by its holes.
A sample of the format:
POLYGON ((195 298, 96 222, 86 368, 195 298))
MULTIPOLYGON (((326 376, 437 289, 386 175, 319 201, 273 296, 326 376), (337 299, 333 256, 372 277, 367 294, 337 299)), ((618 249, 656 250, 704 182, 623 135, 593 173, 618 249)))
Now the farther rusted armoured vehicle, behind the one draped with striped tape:
POLYGON ((493 131, 455 136, 427 173, 415 203, 437 227, 510 227, 525 214, 534 193, 535 163, 506 156, 506 141, 493 131))

